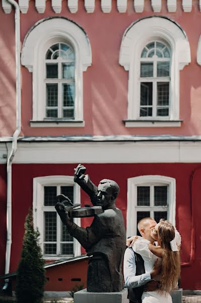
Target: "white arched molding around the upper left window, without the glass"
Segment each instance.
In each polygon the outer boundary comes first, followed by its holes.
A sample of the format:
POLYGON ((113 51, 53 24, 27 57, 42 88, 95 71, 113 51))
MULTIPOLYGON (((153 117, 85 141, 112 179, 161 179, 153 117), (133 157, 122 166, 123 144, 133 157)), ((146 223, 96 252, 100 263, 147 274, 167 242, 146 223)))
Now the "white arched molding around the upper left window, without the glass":
POLYGON ((55 125, 56 123, 59 127, 66 125, 74 127, 74 122, 76 122, 76 126, 84 126, 83 71, 86 71, 91 64, 92 54, 89 39, 85 31, 75 22, 63 17, 50 17, 40 20, 31 28, 22 46, 22 65, 33 73, 33 117, 31 126, 39 127, 43 121, 46 122, 46 125, 43 124, 43 126, 55 125), (75 54, 74 119, 44 119, 46 94, 44 83, 46 77, 45 55, 49 47, 55 43, 71 45, 75 54), (80 125, 78 122, 80 122, 80 125))

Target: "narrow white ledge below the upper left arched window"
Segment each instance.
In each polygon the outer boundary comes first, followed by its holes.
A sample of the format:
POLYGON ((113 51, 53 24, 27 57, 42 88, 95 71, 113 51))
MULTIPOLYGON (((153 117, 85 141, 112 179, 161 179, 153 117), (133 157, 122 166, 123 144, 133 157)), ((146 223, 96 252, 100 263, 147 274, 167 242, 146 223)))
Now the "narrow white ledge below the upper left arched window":
POLYGON ((85 121, 75 120, 42 120, 30 121, 31 127, 84 127, 85 121))

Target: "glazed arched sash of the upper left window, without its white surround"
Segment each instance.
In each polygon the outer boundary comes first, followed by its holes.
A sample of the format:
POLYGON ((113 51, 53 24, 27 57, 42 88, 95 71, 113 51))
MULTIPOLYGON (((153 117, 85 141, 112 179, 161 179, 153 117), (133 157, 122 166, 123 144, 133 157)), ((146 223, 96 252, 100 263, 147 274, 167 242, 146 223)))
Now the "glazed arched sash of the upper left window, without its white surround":
POLYGON ((46 106, 48 119, 75 118, 75 53, 70 45, 55 43, 46 57, 46 106))

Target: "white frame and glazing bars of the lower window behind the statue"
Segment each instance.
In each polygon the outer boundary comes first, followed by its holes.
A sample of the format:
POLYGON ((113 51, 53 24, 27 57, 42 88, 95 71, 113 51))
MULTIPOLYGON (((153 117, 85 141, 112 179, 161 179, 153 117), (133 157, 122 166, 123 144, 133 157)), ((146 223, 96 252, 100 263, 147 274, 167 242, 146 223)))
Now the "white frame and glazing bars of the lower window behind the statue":
MULTIPOLYGON (((33 179, 33 220, 34 226, 38 227, 40 232, 40 242, 41 248, 43 252, 44 259, 54 260, 66 257, 68 255, 61 255, 60 253, 60 234, 62 223, 59 216, 56 214, 56 254, 44 254, 44 226, 45 226, 45 212, 47 213, 55 213, 54 206, 45 206, 44 204, 44 187, 45 186, 54 186, 57 188, 57 193, 60 193, 61 186, 73 186, 73 200, 74 204, 80 203, 80 186, 74 182, 73 176, 44 176, 44 177, 36 177, 33 179)), ((55 197, 56 198, 56 197, 55 197)), ((74 222, 80 226, 80 218, 74 218, 74 222)), ((47 232, 47 231, 46 231, 47 232)), ((81 255, 81 245, 74 238, 73 241, 73 252, 74 256, 81 255)), ((72 256, 71 256, 72 257, 72 256)))

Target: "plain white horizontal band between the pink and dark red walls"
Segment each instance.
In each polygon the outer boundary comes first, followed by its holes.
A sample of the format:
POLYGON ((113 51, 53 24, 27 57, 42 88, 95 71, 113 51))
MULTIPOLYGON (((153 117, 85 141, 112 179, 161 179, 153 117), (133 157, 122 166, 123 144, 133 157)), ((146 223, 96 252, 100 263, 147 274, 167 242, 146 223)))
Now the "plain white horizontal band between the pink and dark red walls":
MULTIPOLYGON (((19 142, 14 163, 200 163, 200 149, 201 141, 19 142)), ((1 164, 6 155, 1 143, 1 164)))

